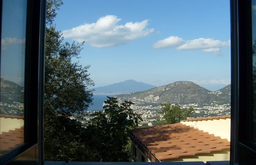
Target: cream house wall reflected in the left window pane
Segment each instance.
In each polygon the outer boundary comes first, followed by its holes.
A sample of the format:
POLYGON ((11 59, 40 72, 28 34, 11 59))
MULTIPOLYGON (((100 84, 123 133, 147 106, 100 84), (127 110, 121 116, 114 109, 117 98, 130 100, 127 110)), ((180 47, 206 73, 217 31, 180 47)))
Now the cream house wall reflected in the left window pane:
POLYGON ((2 132, 9 132, 10 130, 15 130, 16 128, 21 127, 24 127, 24 119, 0 118, 0 134, 2 134, 2 132))

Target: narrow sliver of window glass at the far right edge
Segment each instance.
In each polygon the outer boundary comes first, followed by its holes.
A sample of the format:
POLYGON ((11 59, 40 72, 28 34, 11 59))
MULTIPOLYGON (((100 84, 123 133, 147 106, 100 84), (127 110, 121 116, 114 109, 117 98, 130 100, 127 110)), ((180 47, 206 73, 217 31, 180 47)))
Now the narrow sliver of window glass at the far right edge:
POLYGON ((252 54, 253 54, 253 121, 252 121, 252 140, 256 143, 256 0, 252 0, 252 54))

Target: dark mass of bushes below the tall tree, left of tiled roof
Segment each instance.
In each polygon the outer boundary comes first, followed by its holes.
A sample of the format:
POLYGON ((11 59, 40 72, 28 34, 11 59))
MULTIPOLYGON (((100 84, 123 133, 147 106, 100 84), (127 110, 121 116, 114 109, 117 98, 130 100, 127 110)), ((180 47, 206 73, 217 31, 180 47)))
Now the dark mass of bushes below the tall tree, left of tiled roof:
POLYGON ((128 132, 142 120, 125 101, 120 106, 116 98, 104 103, 104 111, 92 114, 89 124, 52 112, 45 126, 45 160, 129 162, 128 132))

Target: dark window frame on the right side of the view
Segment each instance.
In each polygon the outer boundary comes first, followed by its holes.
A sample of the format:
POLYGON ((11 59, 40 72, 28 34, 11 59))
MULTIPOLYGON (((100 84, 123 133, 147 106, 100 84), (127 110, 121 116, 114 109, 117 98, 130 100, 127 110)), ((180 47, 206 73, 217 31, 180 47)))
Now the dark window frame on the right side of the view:
POLYGON ((230 165, 255 163, 249 142, 253 110, 251 1, 231 0, 231 156, 230 165))

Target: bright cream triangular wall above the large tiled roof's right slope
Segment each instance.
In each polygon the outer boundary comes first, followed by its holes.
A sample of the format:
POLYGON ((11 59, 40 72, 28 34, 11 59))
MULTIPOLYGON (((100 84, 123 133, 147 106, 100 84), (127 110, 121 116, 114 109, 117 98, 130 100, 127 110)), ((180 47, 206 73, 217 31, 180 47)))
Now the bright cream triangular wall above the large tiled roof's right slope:
POLYGON ((204 132, 214 134, 215 136, 220 136, 222 139, 228 139, 228 141, 230 141, 230 122, 230 118, 203 121, 181 121, 182 124, 203 130, 204 132))

